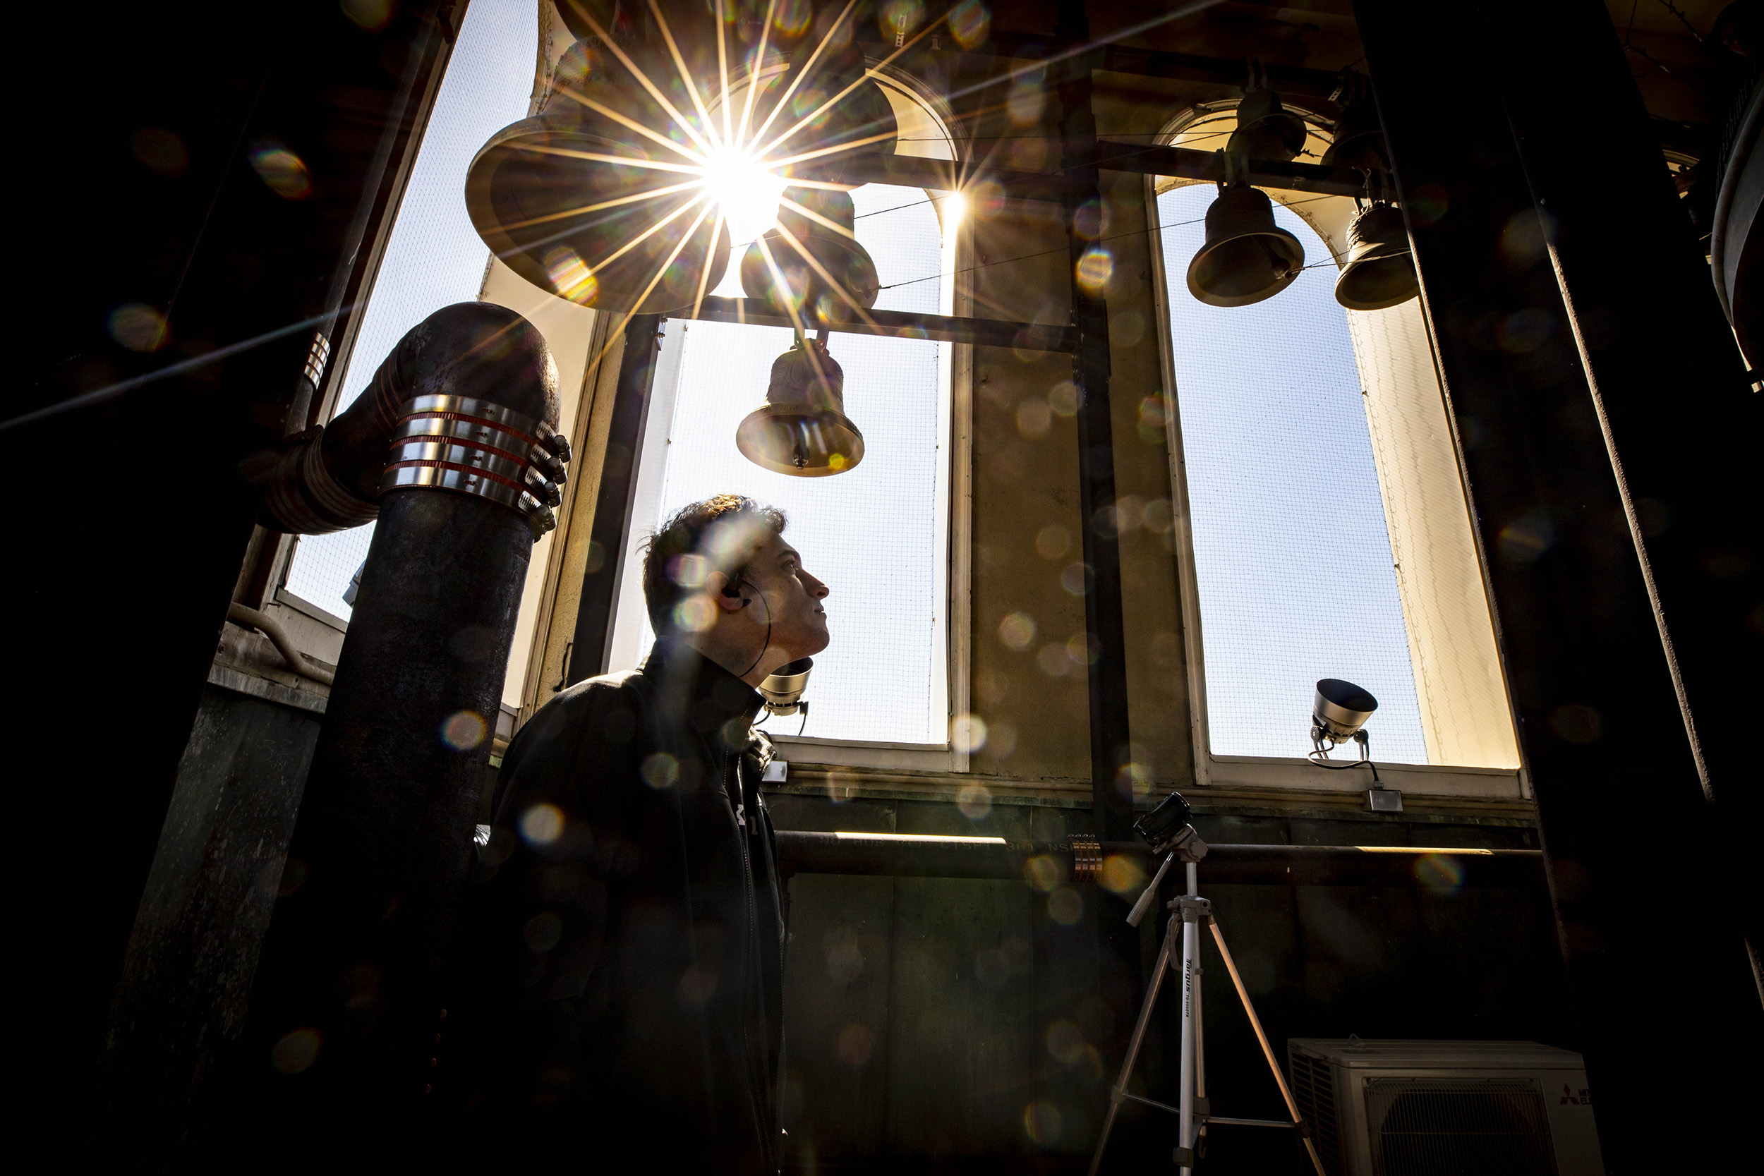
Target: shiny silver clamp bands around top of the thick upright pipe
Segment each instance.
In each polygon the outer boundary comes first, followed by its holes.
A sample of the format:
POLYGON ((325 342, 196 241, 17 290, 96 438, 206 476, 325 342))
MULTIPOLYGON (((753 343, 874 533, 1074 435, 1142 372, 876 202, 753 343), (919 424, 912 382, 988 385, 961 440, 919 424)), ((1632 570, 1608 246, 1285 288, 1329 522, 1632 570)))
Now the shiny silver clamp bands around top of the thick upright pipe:
POLYGON ((379 492, 453 490, 513 510, 533 538, 557 525, 570 443, 550 425, 490 400, 406 400, 392 430, 379 492))

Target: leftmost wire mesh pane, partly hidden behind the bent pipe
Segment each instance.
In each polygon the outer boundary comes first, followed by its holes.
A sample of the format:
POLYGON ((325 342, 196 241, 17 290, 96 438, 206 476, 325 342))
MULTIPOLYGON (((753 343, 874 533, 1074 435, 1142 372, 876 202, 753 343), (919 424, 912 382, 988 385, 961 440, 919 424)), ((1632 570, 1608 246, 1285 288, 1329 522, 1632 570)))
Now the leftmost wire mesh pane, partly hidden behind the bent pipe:
MULTIPOLYGON (((441 307, 478 298, 490 250, 466 215, 466 167, 485 139, 526 118, 536 62, 533 0, 473 2, 349 353, 339 413, 362 395, 404 331, 441 307)), ((289 561, 288 591, 348 621, 342 592, 372 540, 372 524, 302 538, 289 561)))

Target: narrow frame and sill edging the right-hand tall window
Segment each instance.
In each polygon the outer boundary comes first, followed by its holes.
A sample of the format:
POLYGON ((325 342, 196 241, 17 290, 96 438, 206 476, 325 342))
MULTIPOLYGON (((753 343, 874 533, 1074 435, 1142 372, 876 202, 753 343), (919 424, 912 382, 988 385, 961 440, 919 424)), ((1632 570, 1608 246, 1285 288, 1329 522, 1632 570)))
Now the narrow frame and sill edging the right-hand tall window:
MULTIPOLYGON (((1214 106, 1214 104, 1208 104, 1214 106)), ((1200 111, 1207 113, 1207 111, 1200 111)), ((1184 125, 1194 120, 1196 111, 1189 111, 1166 127, 1162 141, 1170 141, 1184 125)), ((1212 732, 1208 725, 1207 711, 1207 658, 1201 640, 1203 619, 1200 607, 1200 577, 1194 557, 1194 534, 1192 534, 1192 515, 1189 504, 1189 485, 1187 485, 1187 465, 1184 458, 1184 441, 1182 441, 1182 411, 1180 398, 1182 390, 1177 386, 1175 377, 1175 339, 1171 333, 1171 307, 1170 307, 1170 273, 1164 264, 1164 240, 1162 229, 1159 227, 1159 210, 1157 197, 1161 196, 1159 182, 1170 180, 1168 176, 1145 176, 1145 217, 1147 231, 1150 236, 1150 256, 1152 256, 1152 303, 1154 303, 1154 323, 1157 324, 1159 339, 1159 374, 1162 379, 1162 391, 1168 400, 1168 409, 1164 413, 1164 444, 1168 450, 1170 462, 1170 501, 1175 515, 1175 527, 1171 531, 1171 548, 1177 562, 1177 589, 1182 610, 1182 642, 1184 642, 1184 668, 1187 675, 1189 688, 1189 732, 1191 744, 1194 749, 1194 783, 1198 786, 1221 786, 1221 788, 1298 788, 1307 792, 1364 792, 1371 788, 1372 779, 1369 772, 1360 770, 1334 770, 1321 769, 1305 760, 1304 756, 1247 756, 1247 755, 1219 755, 1212 749, 1212 732)), ((1263 189, 1275 201, 1284 205, 1288 192, 1263 189)), ((1297 213, 1297 210, 1293 210, 1297 213)), ((1298 213, 1304 215, 1304 213, 1298 213)), ((1304 217, 1305 222, 1318 233, 1323 243, 1330 249, 1332 261, 1337 268, 1342 264, 1346 250, 1337 247, 1332 234, 1316 224, 1312 217, 1304 217)), ((1439 356, 1434 340, 1432 321, 1422 309, 1422 319, 1427 330, 1427 347, 1432 354, 1434 374, 1438 379, 1439 356)), ((1446 397, 1443 379, 1439 381, 1441 400, 1446 407, 1446 416, 1450 418, 1450 400, 1446 397)), ((1455 460, 1459 467, 1459 487, 1464 494, 1464 510, 1469 515, 1469 483, 1464 478, 1462 469, 1462 451, 1457 448, 1457 434, 1454 435, 1455 460)), ((1379 495, 1383 495, 1385 487, 1379 483, 1379 495)), ((1471 529, 1475 534, 1475 529, 1471 529)), ((1480 541, 1476 543, 1476 568, 1482 577, 1482 587, 1485 599, 1492 601, 1489 596, 1489 568, 1487 557, 1482 550, 1480 541)), ((1489 612, 1489 622, 1494 626, 1492 605, 1489 612)), ((1404 628, 1409 624, 1408 614, 1404 614, 1404 628)), ((1505 652, 1499 649, 1499 629, 1494 626, 1496 635, 1496 658, 1499 663, 1499 677, 1503 684, 1503 696, 1506 700, 1508 716, 1514 716, 1512 702, 1512 684, 1506 677, 1505 652)), ((1295 728, 1304 723, 1304 716, 1293 716, 1295 728)), ((1416 795, 1454 795, 1454 797, 1478 797, 1478 799, 1531 799, 1531 785, 1526 776, 1524 763, 1512 769, 1496 767, 1459 767, 1446 763, 1385 763, 1383 760, 1374 760, 1378 763, 1379 781, 1387 788, 1395 788, 1399 792, 1413 792, 1416 795)))

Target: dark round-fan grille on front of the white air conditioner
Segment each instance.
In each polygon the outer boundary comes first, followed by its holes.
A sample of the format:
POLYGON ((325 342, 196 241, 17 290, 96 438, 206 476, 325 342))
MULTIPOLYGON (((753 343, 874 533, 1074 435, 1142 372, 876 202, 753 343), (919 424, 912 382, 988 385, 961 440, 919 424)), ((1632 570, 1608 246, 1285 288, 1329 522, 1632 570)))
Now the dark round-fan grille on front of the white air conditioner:
POLYGON ((1369 1079, 1365 1121, 1376 1176, 1556 1176, 1533 1081, 1369 1079))

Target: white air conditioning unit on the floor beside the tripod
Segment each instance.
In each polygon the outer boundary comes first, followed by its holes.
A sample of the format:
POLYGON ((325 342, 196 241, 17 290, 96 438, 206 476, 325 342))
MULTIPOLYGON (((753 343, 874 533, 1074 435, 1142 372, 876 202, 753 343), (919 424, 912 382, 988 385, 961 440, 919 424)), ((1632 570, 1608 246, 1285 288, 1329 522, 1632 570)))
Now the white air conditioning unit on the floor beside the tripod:
POLYGON ((1330 1176, 1603 1176, 1577 1053, 1295 1037, 1286 1056, 1330 1176))

